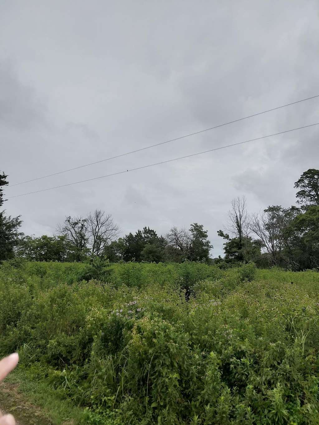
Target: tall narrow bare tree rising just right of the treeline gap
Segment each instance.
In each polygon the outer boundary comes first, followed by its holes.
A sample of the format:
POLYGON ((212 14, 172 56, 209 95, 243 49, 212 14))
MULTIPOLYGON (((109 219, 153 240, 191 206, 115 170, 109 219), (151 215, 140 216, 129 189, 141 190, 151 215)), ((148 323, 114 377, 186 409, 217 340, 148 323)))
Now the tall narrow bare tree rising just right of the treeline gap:
POLYGON ((235 238, 239 239, 239 243, 243 238, 248 238, 251 233, 250 227, 251 217, 247 212, 246 197, 239 196, 231 201, 231 209, 228 211, 228 223, 226 230, 235 238))

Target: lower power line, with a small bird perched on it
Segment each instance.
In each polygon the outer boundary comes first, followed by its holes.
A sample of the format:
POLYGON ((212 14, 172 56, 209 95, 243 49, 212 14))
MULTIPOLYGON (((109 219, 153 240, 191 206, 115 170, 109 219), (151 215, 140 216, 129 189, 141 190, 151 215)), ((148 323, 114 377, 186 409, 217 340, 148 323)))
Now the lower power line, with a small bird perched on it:
POLYGON ((142 170, 143 168, 154 167, 155 165, 166 164, 167 162, 177 161, 179 159, 191 158, 192 156, 202 155, 203 153, 213 152, 214 150, 220 150, 220 149, 225 149, 226 147, 238 146, 239 144, 255 142, 256 140, 265 139, 266 137, 278 136, 279 134, 289 133, 291 131, 300 130, 302 128, 313 127, 314 125, 319 125, 319 122, 316 122, 315 124, 304 125, 303 127, 292 128, 291 130, 280 131, 279 133, 268 134, 267 136, 257 137, 256 139, 245 140, 244 142, 228 144, 226 146, 221 146, 221 147, 215 147, 214 149, 192 153, 191 155, 179 156, 178 158, 168 159, 166 161, 161 161, 161 162, 155 162, 154 164, 143 165, 142 167, 131 168, 130 170, 118 171, 117 173, 107 174, 105 176, 88 178, 86 180, 74 181, 73 183, 61 184, 60 186, 48 187, 47 189, 35 190, 34 192, 22 193, 21 195, 10 196, 8 199, 18 198, 19 196, 31 195, 33 193, 45 192, 46 190, 58 189, 60 187, 71 186, 72 184, 85 183, 86 181, 98 180, 100 178, 117 176, 118 174, 124 174, 130 171, 142 170))

